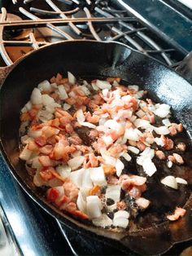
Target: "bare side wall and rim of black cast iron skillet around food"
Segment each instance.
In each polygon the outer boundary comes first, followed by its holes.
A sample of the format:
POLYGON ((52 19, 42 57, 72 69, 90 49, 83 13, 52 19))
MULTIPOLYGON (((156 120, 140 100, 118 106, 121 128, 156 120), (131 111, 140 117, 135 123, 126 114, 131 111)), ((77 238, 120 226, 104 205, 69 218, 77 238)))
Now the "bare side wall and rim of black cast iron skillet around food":
MULTIPOLYGON (((182 197, 181 206, 185 205, 187 213, 179 221, 153 224, 151 220, 151 227, 116 233, 91 227, 59 212, 46 202, 41 190, 35 188, 24 169, 24 163, 19 160, 20 109, 28 101, 34 86, 58 72, 67 76, 67 71, 76 77, 121 77, 129 84, 141 86, 149 91, 155 101, 172 106, 174 116, 192 138, 192 86, 177 73, 120 43, 59 42, 33 51, 17 61, 2 83, 0 144, 11 174, 37 204, 61 223, 118 248, 123 246, 139 254, 162 254, 174 243, 191 239, 191 191, 182 197)), ((171 192, 170 195, 171 201, 171 192)))

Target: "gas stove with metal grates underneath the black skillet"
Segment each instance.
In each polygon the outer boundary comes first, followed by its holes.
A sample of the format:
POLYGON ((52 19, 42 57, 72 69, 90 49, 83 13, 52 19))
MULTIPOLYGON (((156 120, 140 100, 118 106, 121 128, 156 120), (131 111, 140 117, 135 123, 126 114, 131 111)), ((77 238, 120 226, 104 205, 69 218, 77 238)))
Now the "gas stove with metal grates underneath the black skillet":
MULTIPOLYGON (((29 51, 75 39, 123 42, 177 68, 192 50, 191 12, 171 0, 22 0, 0 3, 0 73, 29 51)), ((11 177, 0 156, 1 255, 135 255, 79 235, 46 214, 11 177)), ((178 255, 191 241, 174 245, 178 255)))

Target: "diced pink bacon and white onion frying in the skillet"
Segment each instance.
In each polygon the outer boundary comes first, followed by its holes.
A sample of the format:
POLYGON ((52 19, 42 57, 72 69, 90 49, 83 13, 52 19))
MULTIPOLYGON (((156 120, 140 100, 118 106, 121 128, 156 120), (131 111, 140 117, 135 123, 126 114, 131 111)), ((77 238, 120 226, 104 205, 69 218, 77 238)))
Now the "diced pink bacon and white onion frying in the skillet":
MULTIPOLYGON (((146 91, 122 86, 118 77, 88 83, 57 74, 34 88, 21 110, 20 159, 59 210, 98 227, 126 228, 129 218, 153 205, 144 195, 157 171, 155 158, 170 170, 162 186, 187 184, 171 171, 184 164, 186 145, 173 142, 183 127, 170 117, 168 104, 153 103, 146 91)), ((184 214, 177 207, 167 218, 184 214)))

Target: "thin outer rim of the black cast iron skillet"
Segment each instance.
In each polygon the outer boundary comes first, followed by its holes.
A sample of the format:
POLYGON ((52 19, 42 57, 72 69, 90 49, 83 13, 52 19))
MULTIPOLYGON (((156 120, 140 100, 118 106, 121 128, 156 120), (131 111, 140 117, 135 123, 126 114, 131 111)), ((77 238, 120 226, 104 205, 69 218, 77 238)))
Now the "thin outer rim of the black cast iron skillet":
MULTIPOLYGON (((37 51, 44 51, 44 49, 46 47, 51 47, 51 46, 55 47, 56 45, 63 45, 64 46, 66 43, 73 43, 73 42, 74 43, 76 43, 76 42, 82 42, 82 43, 83 42, 90 42, 90 43, 95 43, 95 44, 107 43, 107 44, 114 44, 114 45, 119 44, 121 46, 124 46, 124 47, 128 48, 131 52, 133 51, 133 52, 137 52, 137 54, 139 54, 139 55, 144 55, 140 51, 134 50, 131 47, 126 46, 124 43, 121 43, 121 42, 97 42, 97 41, 94 41, 94 40, 81 40, 81 39, 68 40, 68 41, 63 41, 63 42, 55 42, 55 43, 52 43, 48 46, 41 46, 41 48, 39 48, 39 49, 28 52, 26 55, 22 56, 19 60, 16 60, 15 63, 12 64, 10 67, 7 67, 8 72, 5 75, 5 77, 3 77, 4 79, 2 80, 2 83, 0 85, 0 95, 1 95, 2 87, 6 86, 4 84, 6 82, 7 77, 11 73, 11 71, 14 70, 17 67, 17 65, 22 63, 22 61, 24 61, 26 58, 28 58, 28 57, 30 58, 30 56, 36 54, 37 51)), ((181 79, 185 80, 185 78, 182 77, 181 74, 177 73, 175 70, 172 70, 172 68, 169 68, 167 65, 162 64, 159 60, 155 60, 155 58, 153 58, 151 56, 147 56, 147 55, 144 55, 144 56, 149 60, 155 61, 155 63, 157 63, 159 66, 163 66, 164 68, 167 68, 170 72, 175 73, 177 76, 181 77, 181 79)), ((185 82, 187 82, 190 85, 190 82, 188 82, 187 80, 185 80, 185 82)), ((1 119, 1 117, 0 117, 0 119, 1 119)), ((16 179, 16 181, 20 184, 21 188, 23 188, 24 191, 27 192, 28 196, 30 196, 33 199, 33 201, 37 202, 37 205, 40 205, 41 208, 46 210, 46 212, 49 213, 54 218, 56 218, 56 220, 59 220, 59 222, 63 223, 64 225, 66 225, 68 227, 71 227, 72 229, 76 229, 76 226, 80 227, 80 228, 83 227, 83 230, 81 230, 81 232, 83 234, 85 234, 85 236, 88 236, 89 234, 91 234, 93 236, 93 234, 94 234, 94 236, 105 236, 105 238, 107 238, 107 239, 111 238, 113 240, 115 239, 116 241, 120 241, 120 242, 124 237, 129 236, 129 233, 122 232, 121 234, 119 234, 119 236, 116 236, 116 237, 112 236, 111 237, 112 232, 107 232, 106 230, 105 230, 105 234, 101 234, 101 233, 103 233, 103 228, 98 228, 98 227, 93 228, 93 227, 88 226, 88 225, 85 226, 81 222, 78 222, 78 220, 76 221, 75 218, 71 218, 71 216, 68 216, 68 214, 63 214, 61 211, 57 210, 55 208, 55 206, 50 205, 50 203, 44 201, 40 196, 37 196, 37 194, 35 192, 33 192, 33 190, 28 186, 28 184, 25 183, 23 181, 23 179, 20 178, 20 175, 17 174, 17 171, 11 165, 11 161, 9 161, 9 159, 7 157, 7 153, 5 152, 4 147, 3 147, 1 135, 0 135, 0 150, 2 152, 3 160, 6 162, 8 169, 11 171, 11 174, 13 175, 14 179, 16 179), (91 229, 94 229, 94 230, 91 230, 91 229), (95 232, 95 231, 97 231, 97 232, 95 232)), ((191 199, 192 199, 192 196, 190 196, 188 201, 191 201, 191 199)), ((168 222, 166 222, 166 223, 168 223, 168 222)), ((157 228, 166 225, 166 223, 160 223, 157 228)), ((136 233, 140 233, 140 232, 136 232, 136 233)), ((191 237, 189 239, 191 239, 191 237)), ((187 241, 187 240, 184 240, 184 241, 187 241)), ((172 245, 176 244, 177 242, 180 242, 180 241, 170 241, 169 247, 167 249, 165 249, 164 252, 167 251, 168 249, 170 249, 172 247, 172 245)), ((129 245, 127 247, 130 248, 129 245)), ((164 252, 161 252, 161 253, 164 253, 164 252)))

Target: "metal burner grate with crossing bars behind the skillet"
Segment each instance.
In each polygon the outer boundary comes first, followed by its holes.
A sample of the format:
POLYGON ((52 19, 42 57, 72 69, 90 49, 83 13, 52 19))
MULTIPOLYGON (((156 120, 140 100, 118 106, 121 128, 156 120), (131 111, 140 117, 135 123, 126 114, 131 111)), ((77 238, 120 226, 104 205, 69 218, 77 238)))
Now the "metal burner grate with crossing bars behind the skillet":
MULTIPOLYGON (((130 16, 118 4, 118 1, 13 0, 12 2, 17 10, 16 15, 19 15, 23 21, 17 20, 20 22, 19 28, 16 24, 11 26, 7 24, 7 10, 2 7, 0 53, 7 65, 13 63, 7 51, 7 48, 11 46, 28 46, 29 51, 33 51, 33 49, 38 49, 52 42, 85 38, 106 42, 123 42, 170 67, 176 67, 185 57, 179 49, 172 47, 168 42, 153 33, 150 27, 143 25, 136 17, 130 16), (83 18, 85 18, 84 21, 82 21, 83 18), (94 18, 105 19, 102 22, 96 22, 94 18), (81 21, 78 21, 78 19, 81 21), (35 23, 31 22, 32 20, 35 23), (59 23, 62 20, 68 22, 59 23), (43 26, 44 28, 42 28, 43 26), (29 27, 30 29, 28 29, 29 27), (28 29, 28 34, 24 39, 5 37, 5 34, 9 34, 10 31, 12 34, 17 34, 18 31, 24 29, 28 29), (44 33, 45 30, 46 34, 44 33), (42 33, 42 31, 44 32, 42 33), (39 33, 42 37, 39 37, 39 33)), ((22 54, 25 53, 26 51, 22 54)))

